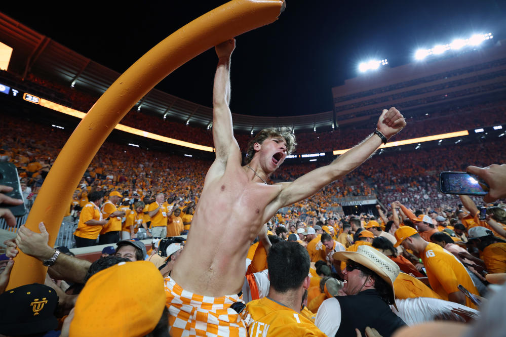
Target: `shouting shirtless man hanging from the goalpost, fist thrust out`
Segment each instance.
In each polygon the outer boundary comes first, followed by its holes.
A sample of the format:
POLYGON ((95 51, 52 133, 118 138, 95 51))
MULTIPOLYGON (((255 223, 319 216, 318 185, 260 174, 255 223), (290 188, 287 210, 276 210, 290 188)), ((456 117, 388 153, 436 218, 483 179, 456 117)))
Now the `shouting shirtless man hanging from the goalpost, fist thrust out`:
MULTIPOLYGON (((295 137, 290 132, 284 133, 284 137, 281 134, 260 132, 250 143, 248 164, 241 165, 241 150, 233 137, 232 117, 228 107, 230 56, 234 48, 235 39, 215 47, 219 59, 213 89, 216 159, 207 173, 185 248, 172 270, 171 282, 166 282, 171 316, 182 320, 188 319, 190 313, 182 313, 180 306, 175 309, 172 307, 173 303, 179 303, 179 300, 173 301, 178 295, 174 288, 182 288, 188 293, 206 296, 208 299, 225 296, 234 301, 232 294, 240 292, 244 283, 244 262, 249 245, 277 210, 307 198, 343 177, 381 145, 381 138, 373 134, 328 166, 317 168, 291 183, 268 185, 265 180, 294 149, 295 137), (258 138, 260 135, 267 137, 258 138), (170 294, 171 291, 176 294, 170 294)), ((377 130, 388 139, 405 125, 399 111, 391 108, 383 110, 377 130)), ((186 303, 184 300, 182 302, 186 303)), ((220 301, 214 301, 218 302, 220 301)), ((224 306, 227 307, 227 302, 223 305, 221 301, 221 308, 224 306)), ((243 324, 240 319, 238 322, 239 325, 243 324)), ((175 322, 172 318, 169 323, 173 326, 171 334, 182 333, 176 331, 177 320, 175 322)), ((238 335, 242 335, 242 332, 238 335)))

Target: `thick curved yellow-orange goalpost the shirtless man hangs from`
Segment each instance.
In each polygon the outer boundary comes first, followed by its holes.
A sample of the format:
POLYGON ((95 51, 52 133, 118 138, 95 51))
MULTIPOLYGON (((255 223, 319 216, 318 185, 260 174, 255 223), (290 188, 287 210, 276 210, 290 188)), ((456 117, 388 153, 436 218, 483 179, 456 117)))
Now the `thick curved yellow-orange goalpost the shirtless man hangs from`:
MULTIPOLYGON (((233 0, 181 27, 154 46, 98 99, 56 158, 25 226, 38 232, 44 222, 53 246, 77 184, 121 119, 167 75, 219 43, 277 20, 284 0, 233 0)), ((44 283, 47 267, 19 251, 7 289, 44 283)))

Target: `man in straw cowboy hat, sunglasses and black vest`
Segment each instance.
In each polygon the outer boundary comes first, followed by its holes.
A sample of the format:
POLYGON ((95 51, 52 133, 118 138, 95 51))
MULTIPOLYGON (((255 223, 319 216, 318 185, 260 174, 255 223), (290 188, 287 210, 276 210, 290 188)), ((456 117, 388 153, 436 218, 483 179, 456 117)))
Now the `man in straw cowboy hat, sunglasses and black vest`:
POLYGON ((400 271, 395 262, 366 245, 357 251, 338 251, 333 258, 346 262, 342 288, 346 296, 323 301, 315 320, 320 330, 327 336, 355 336, 356 328, 364 335, 369 326, 387 337, 406 325, 389 306, 395 306, 394 281, 400 271), (364 315, 364 310, 370 314, 364 315))

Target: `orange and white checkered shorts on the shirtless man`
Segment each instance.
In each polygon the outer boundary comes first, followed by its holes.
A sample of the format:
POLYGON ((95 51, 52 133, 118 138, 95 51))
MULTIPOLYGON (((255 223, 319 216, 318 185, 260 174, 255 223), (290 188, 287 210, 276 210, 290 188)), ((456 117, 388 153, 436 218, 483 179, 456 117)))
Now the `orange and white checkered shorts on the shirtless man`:
POLYGON ((165 278, 170 334, 173 337, 247 337, 246 324, 230 306, 239 296, 209 297, 184 290, 165 278))

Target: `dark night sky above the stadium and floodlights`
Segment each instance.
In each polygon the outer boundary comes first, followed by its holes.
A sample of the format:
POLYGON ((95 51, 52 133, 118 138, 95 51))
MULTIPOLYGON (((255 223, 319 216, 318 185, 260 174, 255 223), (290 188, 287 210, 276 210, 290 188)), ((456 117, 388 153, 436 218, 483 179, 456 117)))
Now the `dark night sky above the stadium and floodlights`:
MULTIPOLYGON (((151 47, 224 1, 2 4, 2 12, 58 43, 123 72, 151 47), (39 7, 40 6, 40 7, 39 7), (84 7, 83 7, 84 6, 84 7), (104 7, 105 6, 105 7, 104 7), (121 7, 125 6, 125 7, 121 7)), ((273 24, 237 37, 232 112, 301 115, 332 110, 331 88, 358 75, 358 63, 409 63, 416 49, 492 32, 505 38, 506 1, 288 0, 273 24)), ((209 50, 157 88, 211 106, 217 58, 209 50)))

